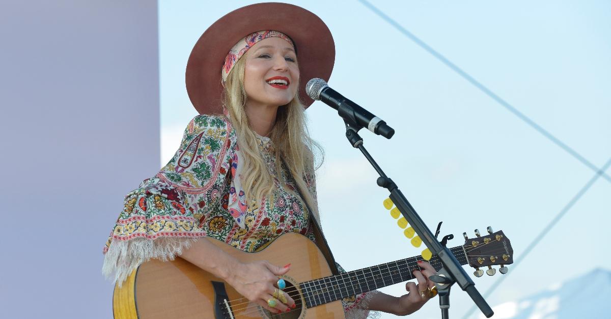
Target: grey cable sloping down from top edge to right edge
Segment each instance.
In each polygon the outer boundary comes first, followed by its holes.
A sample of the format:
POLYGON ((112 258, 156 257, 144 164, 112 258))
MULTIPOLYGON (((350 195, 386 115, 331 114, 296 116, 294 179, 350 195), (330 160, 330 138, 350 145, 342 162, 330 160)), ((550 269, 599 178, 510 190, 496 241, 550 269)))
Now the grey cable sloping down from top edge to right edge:
MULTIPOLYGON (((458 73, 460 76, 462 76, 464 79, 466 79, 470 84, 473 84, 475 87, 479 88, 486 95, 488 95, 490 98, 494 99, 494 101, 497 101, 501 106, 505 107, 505 109, 509 110, 514 115, 518 116, 518 118, 520 120, 524 121, 526 124, 529 124, 536 131, 538 131, 541 134, 543 134, 544 137, 547 137, 549 140, 551 140, 555 145, 560 146, 560 148, 564 149, 566 152, 571 154, 571 156, 575 157, 577 160, 579 160, 579 162, 582 162, 585 166, 589 167, 591 170, 593 170, 595 172, 600 171, 599 168, 596 167, 596 165, 591 163, 589 160, 585 159, 584 156, 579 154, 573 148, 570 148, 568 145, 566 145, 564 142, 562 142, 560 139, 555 137, 550 132, 547 132, 546 129, 541 127, 539 124, 535 123, 535 121, 531 120, 528 116, 524 115, 524 113, 520 112, 515 107, 511 106, 511 104, 509 104, 504 99, 500 98, 500 96, 496 95, 496 93, 492 92, 489 88, 485 87, 485 85, 483 85, 480 82, 478 82, 474 77, 472 77, 469 74, 467 74, 465 71, 463 71, 461 68, 456 66, 454 63, 450 62, 450 60, 448 60, 446 57, 442 56, 441 53, 435 51, 435 49, 431 48, 431 46, 427 45, 424 41, 420 40, 420 38, 416 37, 414 34, 409 32, 409 30, 405 29, 403 26, 398 24, 397 21, 395 21, 392 18, 390 18, 389 16, 387 16, 384 12, 379 10, 373 4, 370 4, 366 0, 358 0, 358 1, 360 3, 362 3, 363 5, 365 5, 365 7, 367 7, 368 9, 373 11, 374 13, 376 13, 376 15, 378 15, 380 18, 382 18, 382 20, 386 21, 387 23, 389 23, 390 25, 395 27, 397 30, 399 30, 403 35, 405 35, 406 37, 408 37, 412 41, 414 41, 418 46, 420 46, 420 48, 425 49, 426 52, 429 52, 431 55, 436 57, 437 60, 440 60, 442 63, 447 65, 450 69, 452 69, 453 71, 458 73)), ((607 181, 611 182, 611 177, 609 175, 607 175, 606 173, 602 173, 602 177, 604 179, 606 179, 607 181)))

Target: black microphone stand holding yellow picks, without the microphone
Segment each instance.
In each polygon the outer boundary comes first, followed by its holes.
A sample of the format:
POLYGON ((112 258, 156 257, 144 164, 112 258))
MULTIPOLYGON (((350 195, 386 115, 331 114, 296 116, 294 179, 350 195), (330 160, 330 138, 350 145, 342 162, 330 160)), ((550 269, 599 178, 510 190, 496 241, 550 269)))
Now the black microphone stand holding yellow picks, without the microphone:
POLYGON ((367 149, 365 149, 363 146, 363 138, 358 134, 363 126, 357 124, 354 110, 346 106, 345 103, 342 103, 338 107, 337 112, 346 123, 346 138, 348 138, 350 144, 354 148, 360 149, 373 168, 378 172, 380 176, 377 180, 378 186, 389 190, 392 203, 397 206, 403 217, 409 222, 412 228, 414 228, 416 234, 420 236, 422 242, 431 253, 433 253, 433 256, 439 256, 443 268, 437 271, 437 273, 429 279, 435 282, 437 292, 439 293, 439 307, 441 308, 442 319, 448 319, 450 287, 455 283, 458 283, 459 287, 469 294, 475 305, 480 308, 486 318, 492 317, 494 312, 491 307, 486 303, 480 292, 475 289, 475 283, 469 278, 469 275, 467 275, 458 260, 456 260, 456 257, 450 252, 450 249, 445 247, 445 240, 443 241, 444 245, 437 242, 437 238, 435 238, 430 229, 426 227, 424 221, 422 221, 418 213, 415 212, 414 207, 409 204, 408 199, 403 196, 397 184, 384 174, 384 171, 378 166, 378 163, 373 160, 373 157, 371 157, 367 149))

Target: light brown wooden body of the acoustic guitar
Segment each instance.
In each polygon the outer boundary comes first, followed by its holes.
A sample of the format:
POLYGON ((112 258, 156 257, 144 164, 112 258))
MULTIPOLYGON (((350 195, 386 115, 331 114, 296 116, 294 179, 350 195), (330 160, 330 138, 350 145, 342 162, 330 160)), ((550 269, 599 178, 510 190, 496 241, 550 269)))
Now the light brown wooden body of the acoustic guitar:
MULTIPOLYGON (((241 262, 268 260, 274 265, 291 263, 291 270, 282 278, 287 282, 285 292, 290 293, 296 301, 296 309, 285 314, 270 315, 267 310, 249 302, 222 279, 184 259, 177 258, 169 262, 153 259, 137 268, 123 282, 122 287, 115 285, 114 318, 345 318, 342 302, 339 300, 309 309, 305 307, 298 284, 332 275, 323 254, 307 237, 297 233, 284 234, 257 253, 244 253, 219 240, 207 240, 241 262), (216 290, 213 282, 218 282, 216 290), (226 313, 226 305, 215 308, 215 299, 221 290, 219 285, 229 297, 227 301, 232 314, 226 313)), ((222 303, 223 300, 216 302, 222 303)))

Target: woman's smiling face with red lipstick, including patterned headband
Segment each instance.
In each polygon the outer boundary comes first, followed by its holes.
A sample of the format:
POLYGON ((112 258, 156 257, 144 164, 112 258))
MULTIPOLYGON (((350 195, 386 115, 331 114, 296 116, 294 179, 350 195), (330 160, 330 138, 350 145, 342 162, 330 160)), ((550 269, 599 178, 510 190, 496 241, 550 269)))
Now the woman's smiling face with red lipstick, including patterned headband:
POLYGON ((279 37, 258 41, 244 56, 248 106, 278 107, 297 94, 299 67, 290 43, 279 37))

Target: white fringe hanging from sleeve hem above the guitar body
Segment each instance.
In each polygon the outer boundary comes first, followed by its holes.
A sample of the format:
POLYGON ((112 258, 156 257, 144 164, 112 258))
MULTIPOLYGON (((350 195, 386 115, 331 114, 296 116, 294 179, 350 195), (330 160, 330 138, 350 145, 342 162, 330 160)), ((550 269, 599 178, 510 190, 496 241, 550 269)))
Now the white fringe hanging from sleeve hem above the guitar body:
POLYGON ((188 249, 198 239, 186 237, 161 237, 154 240, 114 239, 104 256, 102 273, 107 279, 111 279, 114 273, 114 282, 118 282, 121 287, 123 281, 142 263, 152 258, 164 262, 174 260, 177 254, 182 254, 183 249, 188 249))

